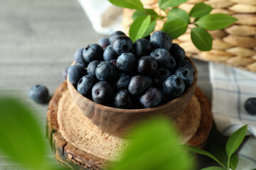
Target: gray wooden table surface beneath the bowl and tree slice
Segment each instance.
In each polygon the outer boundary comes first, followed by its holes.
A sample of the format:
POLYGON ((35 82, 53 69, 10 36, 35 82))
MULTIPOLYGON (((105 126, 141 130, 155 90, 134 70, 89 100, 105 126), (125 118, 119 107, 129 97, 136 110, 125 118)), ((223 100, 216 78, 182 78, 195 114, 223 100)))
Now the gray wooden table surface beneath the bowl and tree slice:
MULTIPOLYGON (((63 82, 62 70, 73 62, 78 47, 97 42, 84 11, 75 0, 0 1, 0 92, 21 96, 46 125, 46 105, 33 103, 28 90, 34 84, 48 86, 50 94, 63 82)), ((211 97, 208 63, 195 61, 198 86, 211 97)), ((47 142, 47 141, 46 141, 47 142)), ((50 149, 49 149, 50 150, 50 149)), ((0 169, 21 169, 0 154, 0 169)), ((55 166, 53 154, 48 162, 55 166)))

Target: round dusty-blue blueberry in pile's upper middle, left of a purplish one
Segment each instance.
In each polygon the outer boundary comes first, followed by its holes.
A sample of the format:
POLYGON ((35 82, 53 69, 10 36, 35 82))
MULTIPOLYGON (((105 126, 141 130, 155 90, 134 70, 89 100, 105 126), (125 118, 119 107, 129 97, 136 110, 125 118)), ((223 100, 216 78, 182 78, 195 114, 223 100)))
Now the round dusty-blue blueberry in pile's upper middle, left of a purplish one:
POLYGON ((122 53, 117 58, 117 68, 122 72, 134 72, 137 65, 137 58, 132 53, 122 53))

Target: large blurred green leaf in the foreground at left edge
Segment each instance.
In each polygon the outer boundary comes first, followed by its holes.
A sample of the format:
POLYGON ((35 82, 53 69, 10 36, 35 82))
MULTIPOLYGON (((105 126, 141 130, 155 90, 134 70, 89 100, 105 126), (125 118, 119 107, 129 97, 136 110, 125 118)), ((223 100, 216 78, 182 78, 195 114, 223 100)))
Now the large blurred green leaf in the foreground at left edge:
POLYGON ((0 97, 0 149, 16 162, 38 169, 46 153, 43 132, 33 113, 11 97, 0 97))

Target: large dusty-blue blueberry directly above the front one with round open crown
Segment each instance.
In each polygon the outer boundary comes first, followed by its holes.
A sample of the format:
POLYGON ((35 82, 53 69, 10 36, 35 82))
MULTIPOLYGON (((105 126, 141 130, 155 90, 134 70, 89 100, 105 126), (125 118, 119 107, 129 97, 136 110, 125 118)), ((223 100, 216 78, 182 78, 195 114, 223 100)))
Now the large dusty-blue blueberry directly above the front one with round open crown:
POLYGON ((102 62, 97 66, 95 75, 100 81, 114 81, 117 78, 117 68, 112 62, 102 62))

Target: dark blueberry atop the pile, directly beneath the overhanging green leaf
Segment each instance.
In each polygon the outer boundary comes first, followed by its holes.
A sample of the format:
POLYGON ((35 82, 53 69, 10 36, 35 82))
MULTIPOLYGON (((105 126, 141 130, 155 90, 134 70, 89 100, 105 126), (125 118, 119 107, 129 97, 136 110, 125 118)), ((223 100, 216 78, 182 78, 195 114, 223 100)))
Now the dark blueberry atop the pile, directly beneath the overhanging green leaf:
POLYGON ((151 51, 152 47, 149 40, 146 40, 145 38, 140 38, 134 42, 134 54, 137 55, 137 57, 149 55, 151 51))

